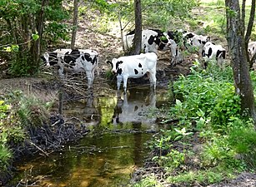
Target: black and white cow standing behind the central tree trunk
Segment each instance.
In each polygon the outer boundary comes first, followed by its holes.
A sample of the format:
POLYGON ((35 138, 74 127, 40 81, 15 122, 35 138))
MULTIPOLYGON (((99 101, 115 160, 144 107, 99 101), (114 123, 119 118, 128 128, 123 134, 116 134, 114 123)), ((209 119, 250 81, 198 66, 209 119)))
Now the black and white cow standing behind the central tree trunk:
MULTIPOLYGON (((133 47, 134 31, 123 37, 124 51, 133 47)), ((168 50, 171 45, 167 40, 167 34, 158 29, 146 29, 142 31, 142 51, 158 53, 158 50, 168 50)))

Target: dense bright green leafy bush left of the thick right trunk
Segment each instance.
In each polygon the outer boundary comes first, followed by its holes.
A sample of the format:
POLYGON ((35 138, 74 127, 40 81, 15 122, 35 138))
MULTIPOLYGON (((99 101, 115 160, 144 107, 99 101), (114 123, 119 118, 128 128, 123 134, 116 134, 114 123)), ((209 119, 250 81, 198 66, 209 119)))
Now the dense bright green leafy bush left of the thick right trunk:
MULTIPOLYGON (((214 130, 226 130, 223 124, 227 124, 230 117, 240 116, 239 97, 234 94, 233 83, 227 82, 231 69, 227 67, 221 76, 216 68, 211 65, 207 71, 200 72, 192 67, 190 75, 180 76, 173 83, 173 92, 181 101, 177 100, 176 106, 171 108, 172 115, 184 114, 180 116, 183 121, 198 121, 207 116, 214 130)), ((198 128, 204 127, 198 124, 198 128)))

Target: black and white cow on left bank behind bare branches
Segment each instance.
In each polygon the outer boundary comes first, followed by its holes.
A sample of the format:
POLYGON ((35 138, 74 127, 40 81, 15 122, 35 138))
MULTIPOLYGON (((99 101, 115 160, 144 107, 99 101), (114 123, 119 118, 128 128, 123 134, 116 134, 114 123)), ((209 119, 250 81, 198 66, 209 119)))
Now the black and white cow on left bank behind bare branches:
POLYGON ((85 72, 88 78, 88 87, 93 86, 94 71, 98 66, 98 52, 89 49, 58 49, 54 52, 45 52, 43 62, 46 66, 58 68, 58 74, 64 78, 65 72, 85 72))

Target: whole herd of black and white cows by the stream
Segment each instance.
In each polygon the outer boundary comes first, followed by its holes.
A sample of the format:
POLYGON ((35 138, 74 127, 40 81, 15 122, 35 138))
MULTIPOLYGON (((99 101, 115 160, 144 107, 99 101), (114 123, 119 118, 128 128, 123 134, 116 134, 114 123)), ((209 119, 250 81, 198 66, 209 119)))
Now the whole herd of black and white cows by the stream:
MULTIPOLYGON (((124 50, 133 46, 134 31, 123 37, 124 50)), ((210 37, 197 35, 193 32, 176 31, 161 32, 157 29, 142 31, 142 51, 140 55, 113 58, 108 64, 112 72, 117 75, 118 90, 123 81, 123 89, 127 90, 128 78, 139 78, 146 73, 149 76, 150 86, 156 87, 156 67, 158 51, 171 52, 171 65, 183 60, 182 51, 196 51, 204 61, 215 60, 223 68, 226 50, 221 45, 210 41, 210 37)), ((249 56, 256 53, 256 42, 248 44, 249 56)), ((43 62, 46 66, 55 66, 62 78, 65 72, 85 72, 88 78, 88 87, 93 86, 94 71, 98 66, 98 52, 89 49, 58 49, 54 52, 45 52, 43 62)))

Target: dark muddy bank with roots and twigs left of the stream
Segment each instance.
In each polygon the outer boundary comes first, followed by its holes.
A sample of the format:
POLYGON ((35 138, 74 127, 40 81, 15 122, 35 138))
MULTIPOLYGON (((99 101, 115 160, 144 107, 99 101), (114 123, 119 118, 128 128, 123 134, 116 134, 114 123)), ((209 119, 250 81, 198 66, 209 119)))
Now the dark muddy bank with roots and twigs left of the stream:
MULTIPOLYGON (((63 148, 68 142, 78 140, 87 135, 89 130, 83 124, 64 121, 62 116, 51 116, 48 124, 28 129, 28 139, 18 145, 10 145, 13 150, 13 162, 33 155, 51 156, 53 151, 63 148)), ((13 166, 0 173, 0 185, 5 185, 13 178, 13 166)))

